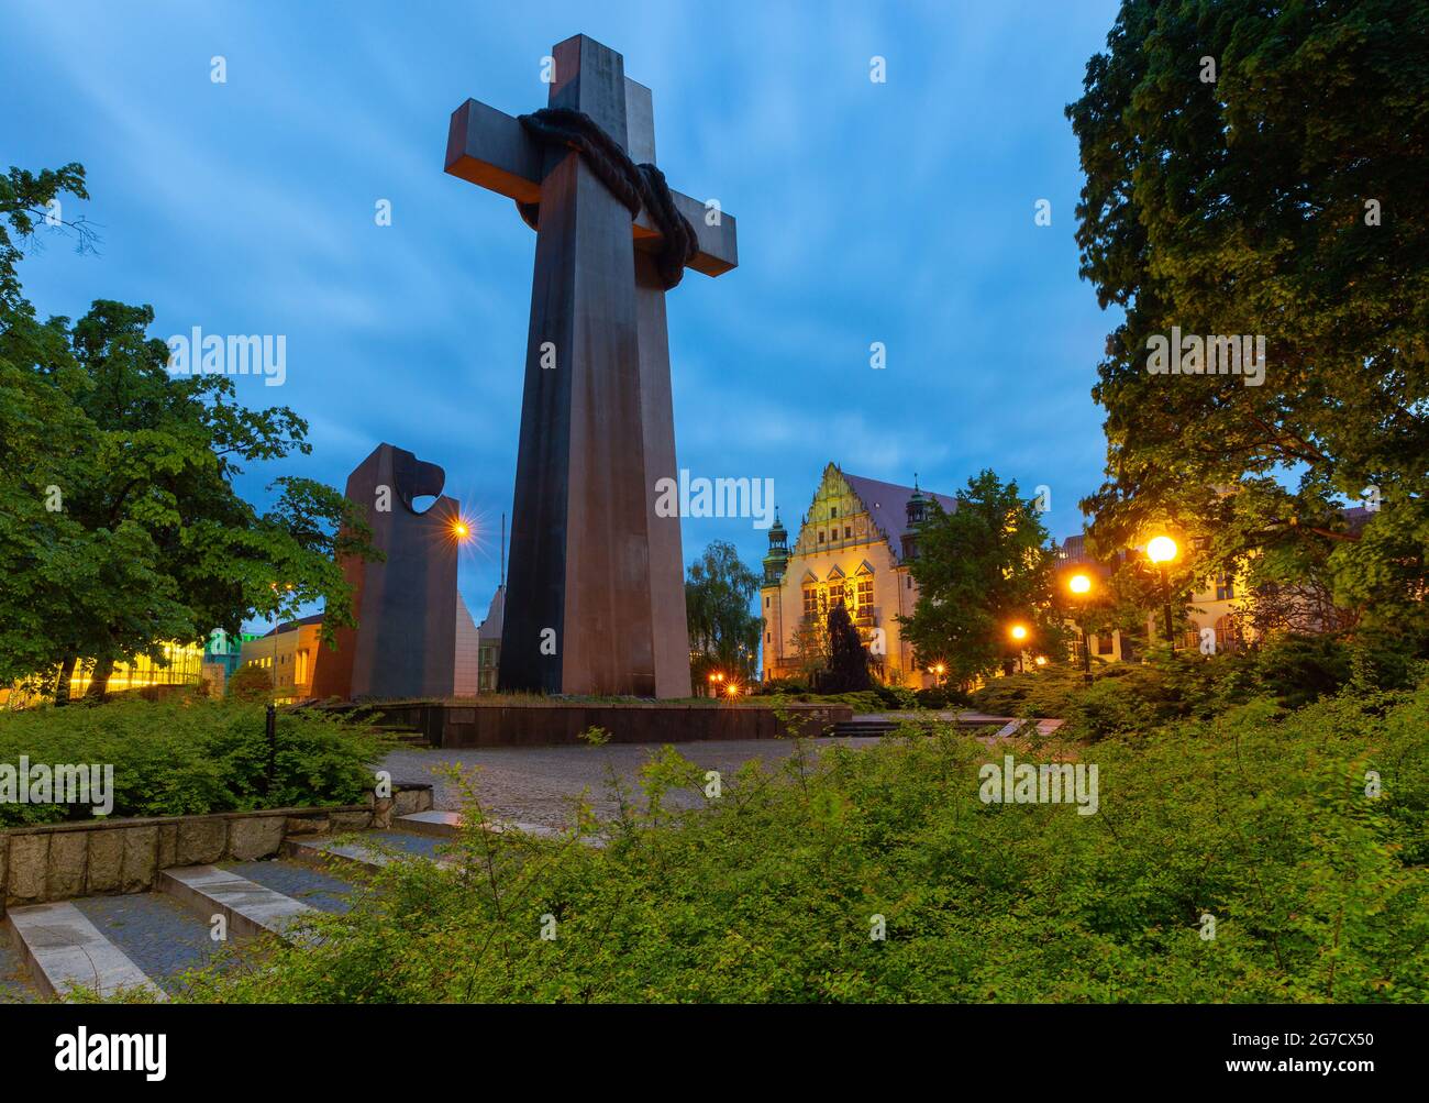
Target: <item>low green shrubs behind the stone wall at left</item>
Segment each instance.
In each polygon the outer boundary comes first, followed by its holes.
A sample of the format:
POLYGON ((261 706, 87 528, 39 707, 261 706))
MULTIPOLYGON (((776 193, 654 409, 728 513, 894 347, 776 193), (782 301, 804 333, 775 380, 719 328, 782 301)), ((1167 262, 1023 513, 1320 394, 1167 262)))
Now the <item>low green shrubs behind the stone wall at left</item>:
MULTIPOLYGON (((319 712, 280 710, 270 790, 264 720, 262 704, 203 697, 0 713, 0 763, 109 764, 113 816, 184 816, 359 803, 392 743, 319 712)), ((90 816, 89 806, 0 804, 0 826, 90 816)))

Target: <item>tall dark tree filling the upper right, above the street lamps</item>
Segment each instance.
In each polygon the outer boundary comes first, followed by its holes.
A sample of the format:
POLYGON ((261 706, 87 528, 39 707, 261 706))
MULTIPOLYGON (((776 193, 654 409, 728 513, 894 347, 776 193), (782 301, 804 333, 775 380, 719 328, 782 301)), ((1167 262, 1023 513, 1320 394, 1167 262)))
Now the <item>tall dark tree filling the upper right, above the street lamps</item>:
POLYGON ((1422 636, 1429 9, 1123 0, 1107 47, 1067 107, 1082 276, 1125 310, 1092 391, 1097 544, 1170 526, 1252 587, 1315 562, 1333 604, 1422 636), (1172 327, 1263 337, 1263 379, 1153 374, 1172 327), (1366 524, 1342 509, 1362 496, 1366 524))

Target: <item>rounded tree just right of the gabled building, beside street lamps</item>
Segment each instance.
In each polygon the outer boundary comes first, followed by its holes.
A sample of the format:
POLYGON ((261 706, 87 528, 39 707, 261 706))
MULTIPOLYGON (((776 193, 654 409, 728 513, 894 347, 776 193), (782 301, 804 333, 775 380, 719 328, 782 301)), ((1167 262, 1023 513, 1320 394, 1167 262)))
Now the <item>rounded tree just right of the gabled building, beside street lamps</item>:
POLYGON ((933 499, 912 560, 917 604, 900 617, 919 666, 943 663, 960 684, 986 677, 1012 656, 1016 623, 1029 629, 1026 646, 1060 654, 1066 613, 1046 543, 1035 501, 993 471, 972 479, 952 513, 933 499))

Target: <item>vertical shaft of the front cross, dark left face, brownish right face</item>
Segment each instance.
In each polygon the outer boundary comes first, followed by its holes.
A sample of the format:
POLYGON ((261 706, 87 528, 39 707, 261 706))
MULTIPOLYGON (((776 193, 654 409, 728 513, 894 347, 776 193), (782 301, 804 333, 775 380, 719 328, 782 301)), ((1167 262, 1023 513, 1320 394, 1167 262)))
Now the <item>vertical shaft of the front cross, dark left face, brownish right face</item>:
MULTIPOLYGON (((577 34, 553 57, 550 106, 582 110, 623 140, 620 54, 577 34)), ((544 159, 500 684, 654 696, 630 211, 579 153, 544 159)), ((687 643, 687 664, 686 653, 687 643)))

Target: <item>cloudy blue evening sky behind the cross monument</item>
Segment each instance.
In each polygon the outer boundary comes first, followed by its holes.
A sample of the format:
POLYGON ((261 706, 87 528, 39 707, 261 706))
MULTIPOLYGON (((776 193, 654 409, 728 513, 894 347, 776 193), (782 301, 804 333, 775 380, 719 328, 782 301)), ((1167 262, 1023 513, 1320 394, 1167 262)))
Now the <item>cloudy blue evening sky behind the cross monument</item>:
MULTIPOLYGON (((672 186, 739 223, 740 266, 669 303, 680 466, 773 479, 793 524, 829 460, 943 493, 992 467, 1029 497, 1050 486, 1060 537, 1102 477, 1089 391, 1115 324, 1077 279, 1063 106, 1116 7, 17 3, 0 167, 83 163, 91 200, 64 214, 104 227, 99 257, 54 239, 24 261, 40 314, 119 299, 151 304, 160 337, 287 337, 286 384, 239 396, 293 407, 313 451, 254 464, 250 499, 286 473, 342 487, 384 440, 442 464, 479 524, 460 586, 480 620, 534 234, 442 171, 447 119, 467 97, 544 106, 542 57, 589 34, 653 89, 672 186)), ((717 539, 756 569, 767 544, 749 519, 686 520, 686 560, 717 539)))

